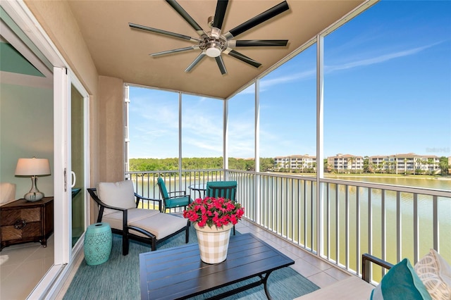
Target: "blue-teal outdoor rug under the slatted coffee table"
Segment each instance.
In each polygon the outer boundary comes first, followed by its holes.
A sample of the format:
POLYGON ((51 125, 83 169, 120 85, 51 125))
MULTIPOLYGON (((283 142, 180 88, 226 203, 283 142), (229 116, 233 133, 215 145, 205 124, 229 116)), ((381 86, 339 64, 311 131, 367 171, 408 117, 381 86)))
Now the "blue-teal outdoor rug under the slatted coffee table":
MULTIPOLYGON (((190 227, 190 243, 197 243, 193 227, 190 227)), ((183 244, 185 244, 185 235, 181 234, 159 244, 157 249, 167 249, 183 244)), ((149 245, 130 241, 129 254, 123 256, 122 238, 120 235, 113 235, 113 249, 109 261, 101 265, 87 265, 85 261, 82 261, 63 299, 140 299, 139 254, 148 251, 150 251, 149 245)), ((206 299, 255 280, 257 279, 245 280, 192 299, 206 299)), ((268 289, 273 299, 282 300, 314 292, 319 287, 292 268, 281 268, 273 271, 268 277, 268 289)), ((226 299, 266 299, 266 295, 263 286, 260 285, 226 299)))

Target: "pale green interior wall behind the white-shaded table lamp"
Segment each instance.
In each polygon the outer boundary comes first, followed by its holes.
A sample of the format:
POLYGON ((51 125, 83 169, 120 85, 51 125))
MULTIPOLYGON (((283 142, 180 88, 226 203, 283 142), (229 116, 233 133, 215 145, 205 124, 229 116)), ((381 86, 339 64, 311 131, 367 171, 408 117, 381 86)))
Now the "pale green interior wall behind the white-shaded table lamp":
POLYGON ((0 83, 0 182, 16 184, 16 199, 30 190, 31 180, 16 177, 18 158, 48 158, 51 175, 40 176, 38 189, 54 195, 53 90, 0 83))

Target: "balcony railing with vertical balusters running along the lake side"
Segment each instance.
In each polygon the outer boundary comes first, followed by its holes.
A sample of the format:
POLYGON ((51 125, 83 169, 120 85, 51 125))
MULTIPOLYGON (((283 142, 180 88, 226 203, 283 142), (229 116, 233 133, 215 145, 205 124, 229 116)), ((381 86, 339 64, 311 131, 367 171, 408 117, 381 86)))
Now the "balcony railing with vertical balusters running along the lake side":
MULTIPOLYGON (((451 261, 450 191, 330 179, 318 188, 315 177, 237 170, 127 173, 138 193, 156 199, 159 175, 170 191, 187 193, 190 185, 237 180, 245 218, 356 275, 363 253, 416 263, 434 248, 451 261)), ((376 282, 382 275, 373 270, 376 282)))

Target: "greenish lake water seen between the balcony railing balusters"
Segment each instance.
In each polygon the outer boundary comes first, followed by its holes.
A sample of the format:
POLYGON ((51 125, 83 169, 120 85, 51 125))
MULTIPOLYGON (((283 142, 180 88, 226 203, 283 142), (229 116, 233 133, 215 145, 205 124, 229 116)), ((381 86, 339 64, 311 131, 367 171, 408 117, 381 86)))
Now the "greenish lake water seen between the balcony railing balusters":
MULTIPOLYGON (((300 177, 302 180, 302 177, 300 177)), ((373 182, 386 185, 396 185, 405 187, 423 187, 440 190, 451 190, 451 180, 435 179, 435 178, 412 178, 412 177, 357 177, 357 176, 336 176, 334 179, 340 180, 352 180, 357 182, 373 182)), ((280 178, 279 178, 280 180, 280 178)), ((278 189, 284 189, 291 186, 292 179, 283 178, 282 182, 276 184, 276 181, 270 183, 270 185, 278 185, 278 189)), ((202 183, 202 182, 195 182, 202 183)), ((194 184, 194 182, 185 182, 183 180, 180 184, 178 180, 172 180, 166 182, 169 190, 179 190, 180 187, 185 189, 187 194, 191 194, 192 198, 198 197, 198 192, 191 191, 188 186, 194 184)), ((266 185, 268 182, 266 182, 266 185)), ((151 198, 159 198, 159 188, 156 182, 153 180, 135 182, 137 192, 144 196, 151 198)), ((311 189, 314 190, 314 185, 311 185, 311 189)), ((303 199, 310 199, 311 189, 301 190, 300 196, 298 191, 292 192, 289 196, 290 199, 299 199, 299 203, 294 204, 293 209, 298 211, 302 206, 300 202, 303 199)), ((399 204, 397 203, 397 193, 393 191, 383 191, 381 189, 369 189, 359 187, 357 189, 354 186, 345 185, 329 185, 329 223, 326 224, 327 216, 323 215, 323 225, 328 226, 328 232, 330 232, 329 239, 324 237, 323 240, 323 253, 328 253, 329 258, 334 261, 339 261, 344 264, 348 259, 350 260, 350 268, 355 270, 357 268, 357 256, 361 256, 363 253, 371 253, 375 256, 381 257, 383 253, 383 245, 385 245, 385 259, 390 262, 397 261, 397 248, 400 246, 402 257, 408 257, 412 264, 414 264, 414 199, 412 193, 402 192, 399 195, 399 204), (346 190, 347 189, 347 190, 346 190), (358 197, 357 197, 358 190, 358 197), (338 201, 335 198, 338 196, 338 201), (348 199, 345 203, 345 199, 348 199), (357 203, 358 199, 358 203, 357 203), (371 199, 371 201, 369 201, 371 199), (371 216, 369 215, 369 205, 371 205, 371 216), (398 208, 400 209, 398 218, 398 208), (357 220, 359 215, 359 220, 357 220), (369 219, 371 217, 371 223, 369 219), (348 218, 348 220, 346 220, 348 218), (385 222, 383 222, 385 220, 385 222), (400 224, 400 232, 397 232, 397 224, 400 224), (369 227, 371 226, 371 242, 369 241, 369 227), (335 234, 338 232, 338 235, 335 234), (398 243, 397 236, 400 235, 400 241, 398 243), (345 241, 345 237, 348 240, 345 241), (360 246, 357 246, 359 243, 360 246), (371 249, 369 249, 371 245, 371 249), (338 246, 338 256, 337 256, 338 246), (326 252, 328 251, 328 252, 326 252), (359 254, 357 253, 359 252, 359 254), (348 258, 347 258, 348 257, 348 258)), ((238 194, 240 194, 240 186, 238 185, 238 194)), ((288 193, 282 192, 281 194, 288 193)), ((282 207, 280 204, 279 195, 267 196, 274 199, 268 200, 270 203, 266 211, 268 213, 280 213, 286 215, 292 215, 290 206, 282 207), (272 202, 271 202, 272 201, 272 202), (274 206, 274 207, 273 207, 274 206), (275 206, 279 206, 276 208, 275 206)), ((316 197, 314 197, 316 199, 316 197)), ((429 249, 433 248, 433 197, 426 195, 418 195, 418 222, 419 222, 419 255, 420 257, 427 254, 429 249)), ((302 208, 304 209, 304 208, 302 208)), ((307 217, 310 218, 314 208, 307 208, 307 217)), ((303 214, 303 213, 302 213, 303 214)), ((313 213, 314 215, 314 213, 313 213)), ((442 254, 447 261, 451 261, 451 199, 438 197, 438 218, 439 218, 439 232, 440 232, 440 254, 442 254)), ((278 219, 279 222, 283 222, 285 218, 282 215, 272 216, 269 219, 278 219)), ((302 244, 309 244, 311 239, 311 227, 310 222, 307 222, 307 230, 304 230, 302 225, 302 215, 296 215, 295 218, 290 221, 292 223, 301 224, 294 229, 294 236, 297 237, 301 232, 302 244), (303 236, 303 232, 307 232, 306 236, 303 236)), ((262 223, 265 223, 262 220, 262 223)), ((266 224, 264 224, 266 225, 266 224)), ((274 226, 267 224, 269 228, 274 226)), ((278 224, 276 228, 284 228, 285 225, 278 224)), ((290 227, 282 229, 282 234, 286 235, 285 230, 290 230, 290 227)), ((315 237, 313 237, 315 239, 315 237)), ((316 242, 314 242, 316 244, 316 242)), ((311 245, 309 245, 311 246, 311 245)), ((374 279, 378 280, 381 273, 375 274, 374 279)))

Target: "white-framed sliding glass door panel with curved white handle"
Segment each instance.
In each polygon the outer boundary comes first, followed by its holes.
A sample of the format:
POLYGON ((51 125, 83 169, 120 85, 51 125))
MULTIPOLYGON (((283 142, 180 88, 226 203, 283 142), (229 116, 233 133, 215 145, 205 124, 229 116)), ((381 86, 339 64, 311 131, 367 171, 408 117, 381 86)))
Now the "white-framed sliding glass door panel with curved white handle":
POLYGON ((65 68, 54 68, 55 79, 55 237, 61 244, 55 261, 70 263, 82 247, 87 227, 87 102, 88 94, 80 81, 65 68))

